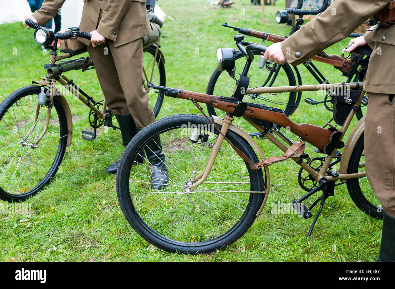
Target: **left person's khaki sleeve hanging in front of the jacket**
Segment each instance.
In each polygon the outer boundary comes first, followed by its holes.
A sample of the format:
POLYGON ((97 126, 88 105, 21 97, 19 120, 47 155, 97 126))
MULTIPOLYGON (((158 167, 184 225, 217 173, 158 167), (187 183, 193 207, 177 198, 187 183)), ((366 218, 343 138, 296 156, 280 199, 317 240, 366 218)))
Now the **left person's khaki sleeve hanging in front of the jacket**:
POLYGON ((109 0, 103 10, 102 19, 100 19, 97 32, 110 40, 117 40, 117 31, 120 21, 128 11, 132 0, 109 0))

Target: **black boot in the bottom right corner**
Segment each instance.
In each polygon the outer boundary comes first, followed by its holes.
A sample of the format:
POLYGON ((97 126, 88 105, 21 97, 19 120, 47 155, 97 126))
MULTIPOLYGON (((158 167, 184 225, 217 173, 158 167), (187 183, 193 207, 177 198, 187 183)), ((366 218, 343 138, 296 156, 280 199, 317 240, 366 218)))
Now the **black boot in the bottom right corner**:
POLYGON ((379 262, 395 261, 395 218, 384 212, 379 262))

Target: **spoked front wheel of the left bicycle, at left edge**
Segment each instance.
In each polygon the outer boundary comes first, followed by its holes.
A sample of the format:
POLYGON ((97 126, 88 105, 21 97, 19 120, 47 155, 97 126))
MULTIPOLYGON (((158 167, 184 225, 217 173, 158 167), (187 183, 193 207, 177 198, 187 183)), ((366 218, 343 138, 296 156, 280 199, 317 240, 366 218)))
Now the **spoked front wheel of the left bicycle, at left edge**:
POLYGON ((37 112, 41 86, 26 86, 11 93, 0 105, 0 198, 24 201, 51 182, 67 144, 67 119, 62 103, 37 112), (48 129, 38 146, 49 115, 48 129))

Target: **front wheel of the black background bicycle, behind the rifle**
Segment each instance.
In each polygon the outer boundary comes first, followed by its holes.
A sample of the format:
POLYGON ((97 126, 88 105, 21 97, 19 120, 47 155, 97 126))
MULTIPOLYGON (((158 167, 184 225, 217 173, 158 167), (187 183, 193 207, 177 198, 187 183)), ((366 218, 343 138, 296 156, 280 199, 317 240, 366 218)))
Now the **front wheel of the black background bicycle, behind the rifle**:
MULTIPOLYGON (((253 50, 255 55, 248 76, 250 77, 249 88, 256 87, 272 87, 272 86, 293 86, 296 85, 295 75, 288 63, 279 65, 275 63, 265 62, 259 65, 260 57, 263 56, 260 51, 253 50), (261 67, 262 66, 262 67, 261 67)), ((245 56, 238 52, 236 54, 236 71, 235 77, 238 78, 239 73, 242 73, 246 63, 245 56)), ((206 93, 210 95, 221 95, 231 97, 236 87, 236 81, 229 76, 227 71, 218 71, 215 69, 213 75, 207 84, 206 93)), ((290 116, 297 108, 297 93, 285 92, 276 94, 249 94, 245 95, 243 101, 250 103, 265 104, 266 106, 273 106, 284 110, 286 116, 290 116)), ((207 104, 207 111, 211 116, 223 117, 225 112, 213 108, 207 104)), ((248 132, 250 136, 260 136, 260 132, 254 131, 251 125, 246 123, 243 119, 235 119, 233 123, 243 130, 248 132)))

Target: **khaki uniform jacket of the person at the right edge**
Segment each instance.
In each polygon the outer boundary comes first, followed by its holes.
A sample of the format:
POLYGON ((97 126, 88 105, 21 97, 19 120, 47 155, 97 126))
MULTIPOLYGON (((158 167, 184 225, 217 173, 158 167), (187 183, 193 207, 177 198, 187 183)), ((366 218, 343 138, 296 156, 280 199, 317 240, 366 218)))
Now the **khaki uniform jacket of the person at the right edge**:
MULTIPOLYGON (((288 63, 298 65, 339 42, 384 8, 390 0, 336 0, 323 13, 281 43, 288 63)), ((365 34, 374 48, 364 90, 395 94, 395 25, 381 26, 365 34)))

